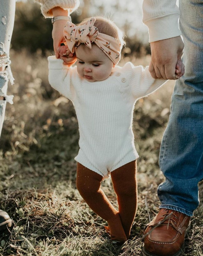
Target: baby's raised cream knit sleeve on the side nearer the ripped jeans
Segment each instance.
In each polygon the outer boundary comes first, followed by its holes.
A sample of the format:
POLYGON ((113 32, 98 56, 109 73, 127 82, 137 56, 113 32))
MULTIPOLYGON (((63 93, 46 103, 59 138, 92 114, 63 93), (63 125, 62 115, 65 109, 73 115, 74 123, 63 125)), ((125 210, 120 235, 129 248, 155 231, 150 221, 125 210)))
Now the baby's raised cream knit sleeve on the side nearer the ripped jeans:
POLYGON ((75 88, 72 80, 75 79, 77 67, 63 65, 61 59, 56 59, 55 56, 48 57, 49 62, 49 83, 51 87, 60 92, 66 98, 74 101, 75 88))

